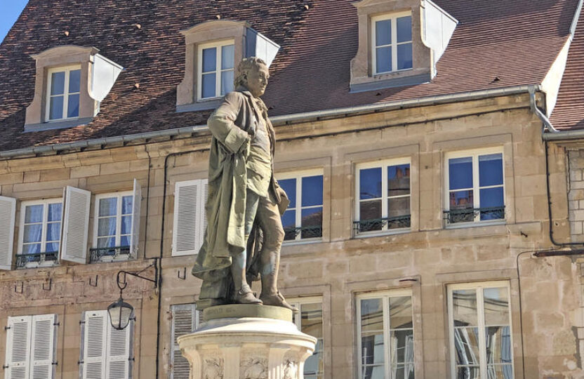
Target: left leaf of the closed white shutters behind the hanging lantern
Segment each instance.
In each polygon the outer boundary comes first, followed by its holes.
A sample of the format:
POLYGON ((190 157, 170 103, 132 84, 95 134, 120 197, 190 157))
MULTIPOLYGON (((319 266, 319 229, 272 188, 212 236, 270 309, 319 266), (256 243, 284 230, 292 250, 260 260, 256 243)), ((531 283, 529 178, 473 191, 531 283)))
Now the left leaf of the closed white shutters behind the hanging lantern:
POLYGON ((107 341, 107 311, 85 312, 83 353, 81 354, 83 379, 105 378, 105 354, 107 341))

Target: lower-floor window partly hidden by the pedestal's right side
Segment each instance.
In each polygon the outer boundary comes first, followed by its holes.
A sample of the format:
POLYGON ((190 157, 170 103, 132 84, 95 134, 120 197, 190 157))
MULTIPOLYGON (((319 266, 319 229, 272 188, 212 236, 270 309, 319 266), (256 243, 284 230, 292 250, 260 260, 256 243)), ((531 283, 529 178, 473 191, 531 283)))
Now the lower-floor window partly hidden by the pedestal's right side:
POLYGON ((322 328, 322 299, 299 298, 289 300, 300 312, 293 314, 293 322, 302 333, 317 338, 317 346, 314 352, 304 363, 305 379, 324 378, 324 336, 322 328))

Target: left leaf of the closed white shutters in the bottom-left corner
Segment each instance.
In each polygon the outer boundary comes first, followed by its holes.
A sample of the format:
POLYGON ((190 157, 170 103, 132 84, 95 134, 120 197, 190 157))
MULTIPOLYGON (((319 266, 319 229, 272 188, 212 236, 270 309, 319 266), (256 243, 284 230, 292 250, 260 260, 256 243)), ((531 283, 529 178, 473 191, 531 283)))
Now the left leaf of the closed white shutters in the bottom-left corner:
POLYGON ((5 379, 28 379, 32 317, 8 317, 5 379))

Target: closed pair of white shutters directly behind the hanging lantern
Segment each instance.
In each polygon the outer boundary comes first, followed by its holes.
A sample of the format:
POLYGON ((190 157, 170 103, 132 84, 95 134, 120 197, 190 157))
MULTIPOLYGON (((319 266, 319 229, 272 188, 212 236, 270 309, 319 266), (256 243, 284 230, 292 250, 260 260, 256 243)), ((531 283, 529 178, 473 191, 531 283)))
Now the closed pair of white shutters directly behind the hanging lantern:
POLYGON ((132 378, 134 323, 112 327, 106 310, 84 312, 81 321, 81 379, 132 378))

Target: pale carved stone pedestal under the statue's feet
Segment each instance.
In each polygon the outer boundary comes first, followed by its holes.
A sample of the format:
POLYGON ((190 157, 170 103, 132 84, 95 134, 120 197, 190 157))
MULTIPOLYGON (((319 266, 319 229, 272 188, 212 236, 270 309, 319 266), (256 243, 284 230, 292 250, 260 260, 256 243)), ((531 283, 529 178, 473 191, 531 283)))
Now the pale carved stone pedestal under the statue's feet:
POLYGON ((178 338, 192 379, 303 379, 317 339, 300 333, 292 312, 267 305, 204 310, 195 333, 178 338))

